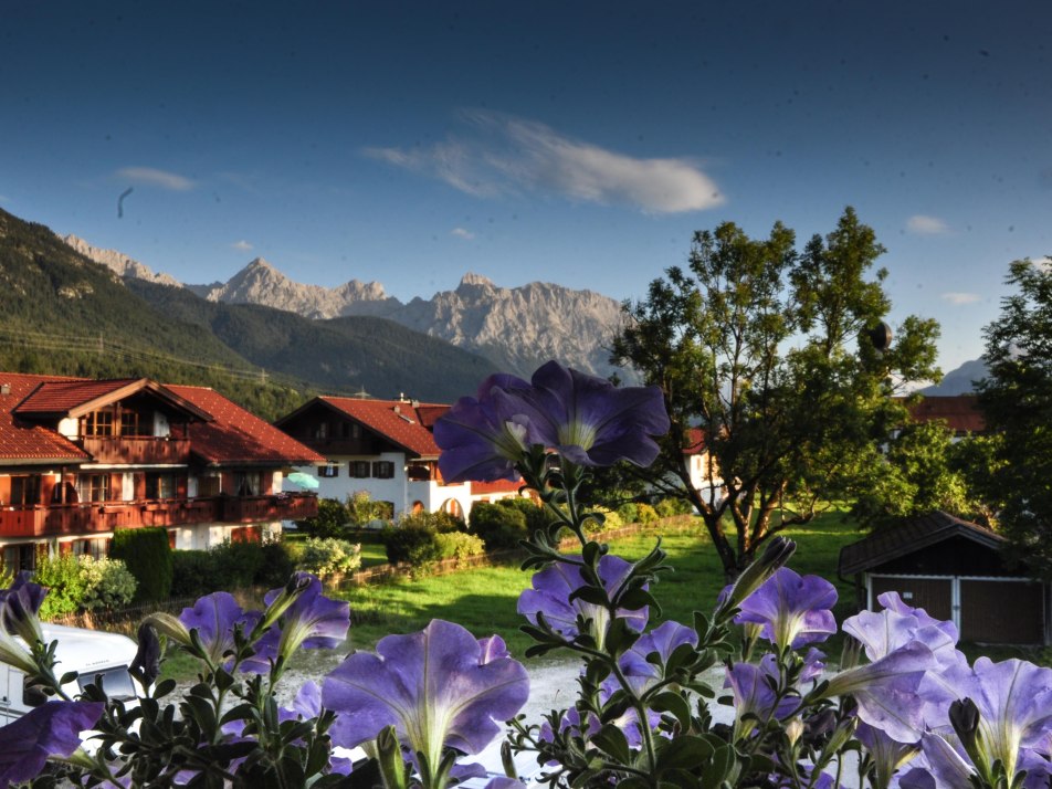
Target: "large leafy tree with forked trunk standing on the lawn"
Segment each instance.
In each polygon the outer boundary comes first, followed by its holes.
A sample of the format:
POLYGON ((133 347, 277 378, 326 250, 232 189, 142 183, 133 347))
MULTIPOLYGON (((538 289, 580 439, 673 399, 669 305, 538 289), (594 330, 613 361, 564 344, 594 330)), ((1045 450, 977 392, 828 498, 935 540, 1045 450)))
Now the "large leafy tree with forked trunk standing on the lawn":
POLYGON ((907 318, 885 349, 871 337, 891 307, 871 271, 883 252, 851 208, 802 251, 781 223, 751 239, 726 222, 624 305, 611 359, 661 387, 673 423, 641 473, 701 513, 728 576, 846 495, 905 419, 896 386, 938 376, 934 322, 907 318), (684 450, 698 432, 712 463, 695 487, 684 450))

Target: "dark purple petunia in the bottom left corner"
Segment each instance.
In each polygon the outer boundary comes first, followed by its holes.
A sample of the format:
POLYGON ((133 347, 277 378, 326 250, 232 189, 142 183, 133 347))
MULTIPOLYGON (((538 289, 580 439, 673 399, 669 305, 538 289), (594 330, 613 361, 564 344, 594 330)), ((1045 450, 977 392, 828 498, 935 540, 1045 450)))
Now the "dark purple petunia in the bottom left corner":
POLYGON ((103 714, 102 703, 48 702, 0 728, 0 787, 40 775, 48 757, 69 757, 81 747, 81 732, 103 714))

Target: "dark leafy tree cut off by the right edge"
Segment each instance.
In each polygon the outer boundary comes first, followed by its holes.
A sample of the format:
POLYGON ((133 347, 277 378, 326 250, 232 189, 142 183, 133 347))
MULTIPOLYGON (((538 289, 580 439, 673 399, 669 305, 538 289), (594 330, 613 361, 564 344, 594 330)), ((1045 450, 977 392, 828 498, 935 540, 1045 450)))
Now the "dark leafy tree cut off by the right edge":
POLYGON ((1020 556, 1052 577, 1052 264, 1016 261, 1016 292, 983 329, 979 406, 993 450, 987 497, 1020 556))

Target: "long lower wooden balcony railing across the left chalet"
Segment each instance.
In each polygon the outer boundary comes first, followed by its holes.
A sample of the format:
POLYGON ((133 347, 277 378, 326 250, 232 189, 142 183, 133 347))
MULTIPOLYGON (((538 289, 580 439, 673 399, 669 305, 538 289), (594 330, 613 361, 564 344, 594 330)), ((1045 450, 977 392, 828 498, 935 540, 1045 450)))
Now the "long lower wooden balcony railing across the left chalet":
POLYGON ((318 499, 311 493, 4 507, 0 509, 0 538, 91 535, 137 526, 301 520, 317 514, 318 499))

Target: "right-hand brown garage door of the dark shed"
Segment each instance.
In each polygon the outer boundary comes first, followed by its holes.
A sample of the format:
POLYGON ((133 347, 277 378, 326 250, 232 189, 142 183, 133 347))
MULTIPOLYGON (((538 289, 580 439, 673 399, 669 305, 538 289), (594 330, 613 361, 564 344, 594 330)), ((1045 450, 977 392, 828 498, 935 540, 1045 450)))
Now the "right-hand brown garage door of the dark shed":
POLYGON ((1040 583, 960 580, 960 638, 993 644, 1044 641, 1040 583))

